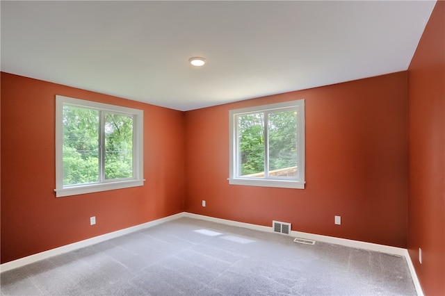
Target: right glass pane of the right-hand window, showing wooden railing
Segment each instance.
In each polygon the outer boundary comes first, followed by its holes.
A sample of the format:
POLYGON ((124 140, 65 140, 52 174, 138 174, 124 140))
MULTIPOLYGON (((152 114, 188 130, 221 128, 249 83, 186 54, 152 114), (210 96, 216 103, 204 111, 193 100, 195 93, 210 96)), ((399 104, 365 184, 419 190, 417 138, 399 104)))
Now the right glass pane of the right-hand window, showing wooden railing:
POLYGON ((269 176, 297 176, 297 112, 268 114, 269 176))

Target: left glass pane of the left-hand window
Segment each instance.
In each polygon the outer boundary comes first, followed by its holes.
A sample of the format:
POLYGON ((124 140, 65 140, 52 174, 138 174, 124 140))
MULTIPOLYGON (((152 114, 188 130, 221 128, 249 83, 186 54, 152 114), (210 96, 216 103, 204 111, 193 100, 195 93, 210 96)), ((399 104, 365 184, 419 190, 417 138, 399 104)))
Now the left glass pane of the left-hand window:
POLYGON ((63 106, 63 185, 99 181, 99 113, 63 106))

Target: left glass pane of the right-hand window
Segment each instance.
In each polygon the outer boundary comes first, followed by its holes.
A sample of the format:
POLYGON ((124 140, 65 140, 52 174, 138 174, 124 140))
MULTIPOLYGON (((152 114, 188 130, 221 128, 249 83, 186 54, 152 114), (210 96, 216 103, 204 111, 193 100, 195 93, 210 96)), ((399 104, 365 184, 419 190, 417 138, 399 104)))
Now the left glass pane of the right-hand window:
POLYGON ((238 115, 238 174, 264 177, 264 114, 238 115))

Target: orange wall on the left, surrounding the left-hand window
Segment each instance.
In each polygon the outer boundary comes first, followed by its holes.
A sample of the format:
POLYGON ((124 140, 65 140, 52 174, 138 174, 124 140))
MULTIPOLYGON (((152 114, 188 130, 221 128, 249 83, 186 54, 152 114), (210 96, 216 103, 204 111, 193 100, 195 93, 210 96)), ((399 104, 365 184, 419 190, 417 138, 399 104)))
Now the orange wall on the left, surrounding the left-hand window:
POLYGON ((184 113, 1 73, 1 263, 182 211, 184 113), (144 186, 55 197, 56 94, 144 110, 144 186))

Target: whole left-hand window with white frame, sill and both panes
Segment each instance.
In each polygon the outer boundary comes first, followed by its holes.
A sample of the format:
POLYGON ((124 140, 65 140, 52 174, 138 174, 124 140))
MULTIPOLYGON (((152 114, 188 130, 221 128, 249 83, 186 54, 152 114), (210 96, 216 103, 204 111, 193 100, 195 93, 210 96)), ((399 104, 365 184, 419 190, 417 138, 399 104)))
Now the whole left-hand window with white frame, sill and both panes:
POLYGON ((143 110, 56 96, 56 197, 143 181, 143 110))

